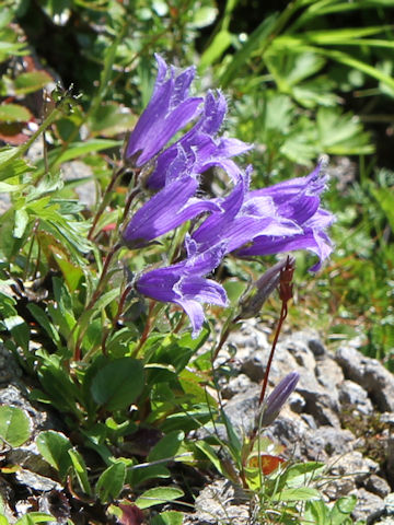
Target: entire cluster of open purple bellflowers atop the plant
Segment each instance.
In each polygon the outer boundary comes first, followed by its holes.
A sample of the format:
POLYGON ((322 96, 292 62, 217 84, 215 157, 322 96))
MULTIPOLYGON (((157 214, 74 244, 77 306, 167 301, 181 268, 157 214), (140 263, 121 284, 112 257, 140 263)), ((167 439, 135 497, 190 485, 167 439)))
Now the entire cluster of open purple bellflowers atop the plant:
POLYGON ((195 69, 178 72, 155 58, 153 95, 129 137, 126 159, 138 168, 149 165, 146 186, 157 192, 130 219, 123 241, 140 248, 194 220, 197 226, 186 236, 184 260, 142 273, 136 289, 178 304, 196 336, 205 319, 201 304, 227 304, 224 289, 206 278, 227 254, 251 257, 308 249, 318 257, 311 269, 315 271, 332 252, 325 232, 334 218, 321 208, 326 176, 320 165, 305 177, 250 190, 252 168, 242 171, 233 158, 252 147, 218 136, 227 112, 223 94, 189 96, 195 69), (164 149, 192 121, 192 128, 164 149), (201 198, 200 175, 212 166, 228 173, 232 189, 221 198, 201 198))

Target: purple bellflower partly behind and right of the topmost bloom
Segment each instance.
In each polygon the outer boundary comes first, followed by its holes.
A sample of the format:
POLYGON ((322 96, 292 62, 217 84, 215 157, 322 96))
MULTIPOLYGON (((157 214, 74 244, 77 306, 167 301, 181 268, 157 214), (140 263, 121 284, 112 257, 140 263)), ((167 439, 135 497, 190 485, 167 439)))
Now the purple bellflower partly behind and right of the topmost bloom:
POLYGON ((177 142, 170 145, 157 159, 157 165, 147 180, 147 186, 160 189, 165 185, 166 170, 177 154, 181 145, 188 155, 196 156, 196 173, 204 173, 209 167, 222 167, 232 180, 239 179, 240 168, 232 156, 240 155, 252 148, 237 139, 216 138, 227 112, 224 95, 209 91, 204 103, 204 110, 194 125, 177 142))

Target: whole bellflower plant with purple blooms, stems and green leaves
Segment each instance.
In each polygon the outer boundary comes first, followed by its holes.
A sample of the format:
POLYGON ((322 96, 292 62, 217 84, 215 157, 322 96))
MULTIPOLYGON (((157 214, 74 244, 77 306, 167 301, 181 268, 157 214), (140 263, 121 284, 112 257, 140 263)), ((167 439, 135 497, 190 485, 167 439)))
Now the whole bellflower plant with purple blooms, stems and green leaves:
MULTIPOLYGON (((269 268, 236 306, 221 268, 229 258, 303 249, 317 256, 315 271, 333 249, 334 217, 322 206, 324 165, 304 177, 253 188, 254 168, 243 165, 242 156, 253 145, 223 132, 223 93, 194 96, 194 67, 179 70, 159 55, 155 59, 152 96, 114 161, 95 212, 83 214, 63 196, 56 163, 54 173, 40 167, 38 175, 23 164, 23 170, 13 166, 22 172, 21 184, 4 219, 5 233, 18 240, 8 254, 8 275, 21 265, 19 273, 36 287, 50 281, 48 296, 27 306, 32 324, 20 316, 16 300, 4 302, 10 348, 39 384, 35 399, 50 402, 72 435, 42 431, 36 446, 58 482, 67 485, 68 497, 77 494, 76 514, 99 508, 103 522, 109 504, 120 523, 128 515, 141 522, 141 510, 183 498, 184 488, 160 480, 171 479, 177 462, 195 466, 201 456, 245 489, 262 489, 255 470, 268 456, 260 454, 260 429, 277 417, 298 374, 285 377, 265 400, 267 372, 256 428, 244 443, 206 385, 217 385, 216 358, 229 332, 240 320, 258 316, 277 287, 281 325, 294 259, 269 268), (127 188, 119 188, 123 178, 127 188), (213 314, 220 317, 219 335, 206 323, 213 314), (35 350, 44 334, 49 342, 35 350), (197 373, 194 360, 209 336, 209 365, 197 373), (212 419, 224 421, 228 436, 210 436, 211 446, 190 431, 212 419), (230 463, 220 458, 218 444, 229 448, 230 463), (82 457, 85 450, 95 463, 88 454, 82 457), (153 488, 146 490, 147 482, 153 488)), ((74 102, 70 93, 59 100, 59 113, 74 102)), ((45 120, 37 136, 50 124, 45 120)), ((19 153, 23 149, 13 153, 18 162, 19 153)), ((5 159, 12 161, 12 155, 5 159)))

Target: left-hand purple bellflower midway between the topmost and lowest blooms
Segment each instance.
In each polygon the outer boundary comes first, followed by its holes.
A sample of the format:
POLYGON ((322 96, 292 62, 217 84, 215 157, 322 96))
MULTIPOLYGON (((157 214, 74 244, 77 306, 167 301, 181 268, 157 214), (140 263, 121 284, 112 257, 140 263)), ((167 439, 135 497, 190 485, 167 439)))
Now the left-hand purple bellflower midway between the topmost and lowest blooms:
POLYGON ((129 248, 147 246, 185 221, 219 209, 212 200, 195 197, 199 183, 193 170, 193 162, 178 148, 178 155, 169 168, 167 184, 131 217, 123 232, 123 241, 129 248))

